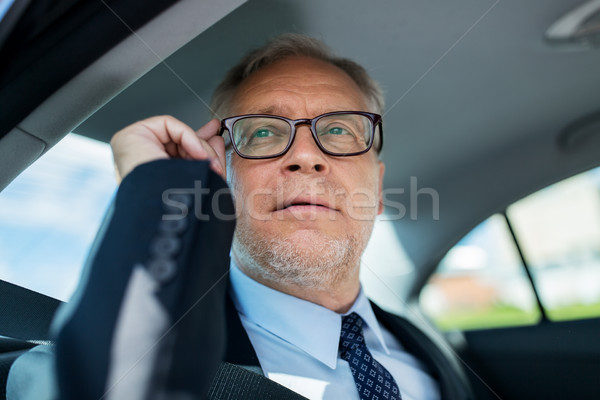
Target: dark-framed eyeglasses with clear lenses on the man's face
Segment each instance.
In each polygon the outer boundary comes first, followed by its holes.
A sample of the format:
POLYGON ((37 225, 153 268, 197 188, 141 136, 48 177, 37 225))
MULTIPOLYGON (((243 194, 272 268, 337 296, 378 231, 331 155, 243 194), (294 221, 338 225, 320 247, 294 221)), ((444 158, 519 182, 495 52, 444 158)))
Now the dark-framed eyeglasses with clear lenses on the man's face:
POLYGON ((363 111, 337 111, 309 119, 288 119, 268 114, 247 114, 221 121, 233 149, 240 157, 275 158, 285 154, 294 141, 296 127, 309 125, 317 146, 325 154, 338 157, 366 153, 376 142, 383 144, 381 115, 363 111), (379 135, 376 132, 379 131, 379 135))

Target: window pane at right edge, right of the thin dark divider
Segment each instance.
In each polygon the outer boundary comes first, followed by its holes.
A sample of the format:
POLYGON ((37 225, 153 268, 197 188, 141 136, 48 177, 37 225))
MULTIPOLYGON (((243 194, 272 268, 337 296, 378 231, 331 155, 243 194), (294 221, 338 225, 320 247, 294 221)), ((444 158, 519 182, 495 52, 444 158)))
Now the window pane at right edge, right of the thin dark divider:
POLYGON ((600 168, 516 202, 507 215, 548 318, 600 316, 600 168))

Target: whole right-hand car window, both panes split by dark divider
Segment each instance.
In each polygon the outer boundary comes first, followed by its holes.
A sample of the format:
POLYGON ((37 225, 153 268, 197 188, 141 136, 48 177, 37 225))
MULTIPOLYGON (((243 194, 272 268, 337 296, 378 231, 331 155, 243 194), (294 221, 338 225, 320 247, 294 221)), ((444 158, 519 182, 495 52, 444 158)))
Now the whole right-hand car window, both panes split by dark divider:
POLYGON ((419 303, 442 330, 600 316, 600 168, 481 223, 442 259, 419 303))

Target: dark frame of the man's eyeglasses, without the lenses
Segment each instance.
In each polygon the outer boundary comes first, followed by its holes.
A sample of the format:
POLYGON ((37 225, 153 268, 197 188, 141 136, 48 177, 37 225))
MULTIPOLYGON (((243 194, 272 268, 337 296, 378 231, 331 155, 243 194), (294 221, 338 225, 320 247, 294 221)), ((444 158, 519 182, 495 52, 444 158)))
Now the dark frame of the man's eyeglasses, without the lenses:
POLYGON ((375 142, 375 131, 376 131, 377 126, 379 126, 379 146, 375 150, 379 153, 379 151, 381 151, 381 148, 383 147, 382 117, 379 114, 374 114, 374 113, 370 113, 370 112, 366 112, 366 111, 334 111, 334 112, 329 112, 329 113, 318 115, 314 118, 301 118, 301 119, 289 119, 289 118, 285 118, 285 117, 282 117, 279 115, 273 115, 273 114, 236 115, 233 117, 225 118, 221 121, 221 132, 219 132, 219 135, 223 135, 225 133, 225 131, 229 132, 229 139, 231 140, 231 146, 233 147, 235 152, 242 158, 253 159, 253 160, 276 158, 276 157, 281 157, 282 155, 287 153, 287 151, 290 149, 290 147, 292 147, 292 143, 294 143, 294 138, 296 137, 296 126, 298 126, 298 125, 309 125, 313 139, 315 140, 315 143, 317 144, 319 149, 321 149, 321 151, 323 153, 330 155, 330 156, 350 157, 350 156, 358 156, 360 154, 364 154, 364 153, 368 152, 369 150, 371 150, 371 147, 373 147, 373 143, 375 142), (323 147, 323 145, 319 141, 319 138, 317 135, 317 129, 316 129, 317 122, 321 118, 328 117, 330 115, 340 115, 340 114, 358 114, 358 115, 367 117, 371 121, 371 126, 372 126, 371 136, 369 138, 369 144, 367 145, 367 147, 364 150, 353 152, 353 153, 335 153, 335 152, 331 152, 323 147), (248 155, 242 154, 238 150, 237 146, 235 145, 235 140, 233 138, 233 125, 241 119, 253 118, 253 117, 277 118, 277 119, 287 122, 290 125, 290 128, 292 129, 290 132, 290 140, 288 141, 288 144, 285 146, 285 148, 282 151, 280 151, 277 154, 273 154, 273 155, 269 155, 269 156, 248 156, 248 155))

